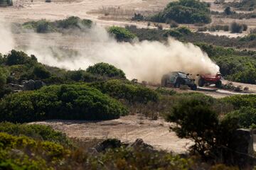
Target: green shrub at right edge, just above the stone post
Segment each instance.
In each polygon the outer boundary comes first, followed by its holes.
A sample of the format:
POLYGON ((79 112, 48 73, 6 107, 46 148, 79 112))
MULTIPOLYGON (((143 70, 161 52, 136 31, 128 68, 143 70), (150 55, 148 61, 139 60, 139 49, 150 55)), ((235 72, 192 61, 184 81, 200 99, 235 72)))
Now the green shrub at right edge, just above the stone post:
POLYGON ((225 115, 225 118, 235 118, 238 120, 240 128, 250 128, 256 124, 256 109, 251 107, 242 107, 238 111, 233 111, 225 115))

